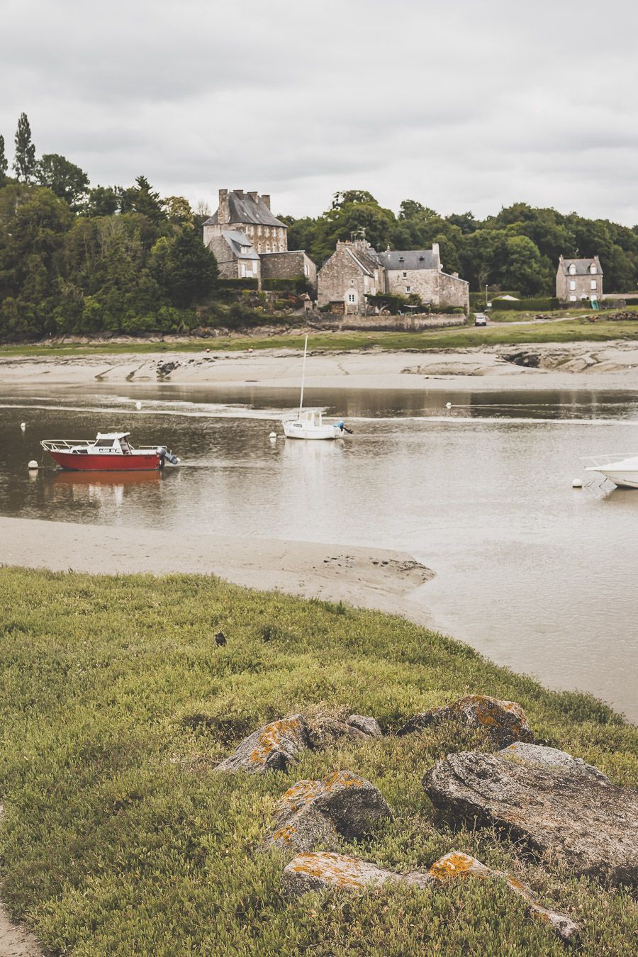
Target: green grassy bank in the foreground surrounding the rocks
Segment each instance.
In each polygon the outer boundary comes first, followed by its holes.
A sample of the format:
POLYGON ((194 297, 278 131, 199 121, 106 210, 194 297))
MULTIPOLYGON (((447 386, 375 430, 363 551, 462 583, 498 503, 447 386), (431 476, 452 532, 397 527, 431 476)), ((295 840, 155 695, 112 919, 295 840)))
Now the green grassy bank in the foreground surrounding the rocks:
POLYGON ((564 953, 489 881, 286 900, 282 858, 258 849, 273 805, 295 781, 338 768, 376 784, 395 814, 349 853, 409 870, 469 852, 582 921, 584 953, 633 951, 626 893, 435 819, 421 777, 476 746, 469 732, 345 742, 261 778, 211 773, 245 734, 297 709, 372 714, 391 730, 483 692, 519 701, 539 740, 635 784, 638 731, 593 698, 546 691, 399 617, 207 577, 2 568, 0 606, 2 893, 54 953, 564 953))

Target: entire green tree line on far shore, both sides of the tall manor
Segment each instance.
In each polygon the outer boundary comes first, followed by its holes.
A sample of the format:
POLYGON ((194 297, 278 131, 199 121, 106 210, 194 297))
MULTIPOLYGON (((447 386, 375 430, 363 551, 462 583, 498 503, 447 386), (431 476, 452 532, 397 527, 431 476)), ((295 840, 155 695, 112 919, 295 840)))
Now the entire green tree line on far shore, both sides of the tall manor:
MULTIPOLYGON (((165 332, 229 319, 217 263, 201 239, 208 209, 161 197, 143 175, 130 187, 92 187, 66 157, 36 155, 24 113, 11 170, 0 135, 0 338, 165 332)), ((446 272, 474 291, 553 295, 561 254, 600 256, 608 292, 638 287, 638 227, 575 212, 516 203, 478 220, 407 199, 395 214, 352 189, 316 218, 279 218, 289 249, 307 250, 319 266, 338 240, 364 234, 379 250, 438 243, 446 272)), ((234 310, 235 319, 257 318, 239 302, 234 310)))

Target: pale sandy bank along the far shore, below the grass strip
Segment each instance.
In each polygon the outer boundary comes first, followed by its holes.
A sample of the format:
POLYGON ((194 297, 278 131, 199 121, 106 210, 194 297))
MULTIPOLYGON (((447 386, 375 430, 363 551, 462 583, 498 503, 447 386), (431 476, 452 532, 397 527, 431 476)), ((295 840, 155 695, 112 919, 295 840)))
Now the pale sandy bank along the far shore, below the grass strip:
MULTIPOLYGON (((0 356, 0 386, 251 385, 297 388, 296 349, 0 356)), ((315 389, 635 389, 638 343, 494 345, 416 352, 360 349, 308 357, 315 389)))

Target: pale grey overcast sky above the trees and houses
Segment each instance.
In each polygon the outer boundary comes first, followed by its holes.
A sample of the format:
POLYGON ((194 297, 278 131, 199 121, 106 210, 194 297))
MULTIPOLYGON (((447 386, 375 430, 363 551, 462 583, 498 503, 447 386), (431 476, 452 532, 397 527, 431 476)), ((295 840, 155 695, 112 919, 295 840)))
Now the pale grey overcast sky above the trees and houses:
POLYGON ((0 0, 0 133, 214 210, 339 189, 638 223, 636 0, 0 0))

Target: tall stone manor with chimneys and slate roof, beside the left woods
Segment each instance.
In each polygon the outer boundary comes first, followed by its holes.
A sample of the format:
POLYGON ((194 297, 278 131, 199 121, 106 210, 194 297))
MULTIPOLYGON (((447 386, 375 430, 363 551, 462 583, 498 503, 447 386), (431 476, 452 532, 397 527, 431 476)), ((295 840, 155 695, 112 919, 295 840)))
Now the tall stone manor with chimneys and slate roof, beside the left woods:
POLYGON ((317 266, 303 250, 288 249, 288 227, 271 212, 271 197, 220 189, 219 207, 204 223, 204 245, 226 279, 307 279, 317 286, 317 266))

